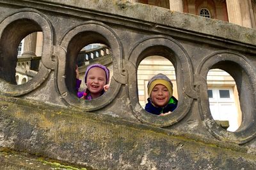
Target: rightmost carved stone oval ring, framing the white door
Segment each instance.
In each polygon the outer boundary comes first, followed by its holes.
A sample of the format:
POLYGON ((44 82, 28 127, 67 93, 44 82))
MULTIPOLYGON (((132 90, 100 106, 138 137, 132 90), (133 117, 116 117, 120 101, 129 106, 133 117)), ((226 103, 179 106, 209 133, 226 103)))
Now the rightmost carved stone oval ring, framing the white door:
POLYGON ((200 62, 196 74, 199 87, 198 110, 205 127, 216 138, 234 143, 246 143, 255 138, 256 124, 255 104, 256 104, 256 74, 251 61, 244 55, 237 52, 219 51, 205 57, 200 62), (207 96, 206 76, 209 69, 218 68, 227 71, 236 81, 239 92, 240 105, 242 110, 242 123, 235 132, 229 132, 217 125, 209 109, 207 96))

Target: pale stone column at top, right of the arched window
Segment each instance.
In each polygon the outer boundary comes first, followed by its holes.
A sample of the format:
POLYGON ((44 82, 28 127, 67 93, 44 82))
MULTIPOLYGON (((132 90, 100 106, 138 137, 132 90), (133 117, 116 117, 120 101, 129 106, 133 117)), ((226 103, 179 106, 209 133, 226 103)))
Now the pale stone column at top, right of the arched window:
POLYGON ((250 14, 250 0, 227 0, 228 21, 252 28, 252 16, 250 14))

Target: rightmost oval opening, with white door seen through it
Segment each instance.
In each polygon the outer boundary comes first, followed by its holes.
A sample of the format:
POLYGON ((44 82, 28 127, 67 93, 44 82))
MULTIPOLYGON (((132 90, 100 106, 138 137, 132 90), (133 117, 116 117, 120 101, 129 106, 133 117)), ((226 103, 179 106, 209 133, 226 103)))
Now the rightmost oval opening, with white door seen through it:
POLYGON ((212 118, 227 131, 236 131, 242 122, 239 94, 234 78, 222 69, 207 74, 207 93, 212 118))

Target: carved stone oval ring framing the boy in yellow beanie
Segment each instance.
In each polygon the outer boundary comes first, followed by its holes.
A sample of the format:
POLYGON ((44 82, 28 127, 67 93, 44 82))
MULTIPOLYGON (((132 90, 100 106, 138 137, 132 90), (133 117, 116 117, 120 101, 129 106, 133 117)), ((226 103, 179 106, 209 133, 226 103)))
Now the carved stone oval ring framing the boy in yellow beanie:
POLYGON ((179 94, 179 104, 172 114, 166 117, 156 117, 141 108, 137 96, 137 80, 135 76, 129 76, 129 98, 131 100, 134 116, 141 122, 166 127, 179 122, 186 116, 193 98, 196 96, 193 89, 193 69, 186 50, 175 41, 175 39, 166 36, 150 36, 142 39, 129 53, 129 62, 125 67, 129 67, 129 74, 136 74, 141 60, 150 55, 161 55, 172 61, 176 70, 177 87, 179 94), (186 81, 186 83, 184 82, 186 81))

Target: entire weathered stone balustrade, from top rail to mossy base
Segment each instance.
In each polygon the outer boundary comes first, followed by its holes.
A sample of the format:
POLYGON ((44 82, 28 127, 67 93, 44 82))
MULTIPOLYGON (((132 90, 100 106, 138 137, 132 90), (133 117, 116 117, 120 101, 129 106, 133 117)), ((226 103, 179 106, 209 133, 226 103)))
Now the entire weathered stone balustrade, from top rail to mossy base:
POLYGON ((0 144, 94 169, 254 169, 256 31, 125 1, 0 1, 0 144), (17 46, 44 34, 38 74, 15 85, 17 46), (112 51, 108 92, 77 99, 79 50, 112 51), (138 103, 140 61, 161 55, 175 67, 179 106, 157 117, 138 103), (236 81, 243 122, 236 132, 211 117, 206 76, 236 81))

